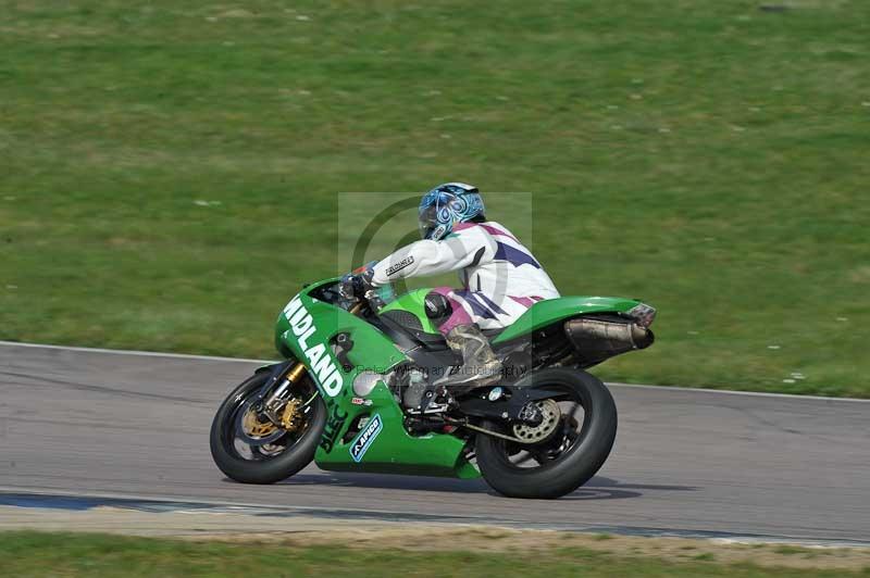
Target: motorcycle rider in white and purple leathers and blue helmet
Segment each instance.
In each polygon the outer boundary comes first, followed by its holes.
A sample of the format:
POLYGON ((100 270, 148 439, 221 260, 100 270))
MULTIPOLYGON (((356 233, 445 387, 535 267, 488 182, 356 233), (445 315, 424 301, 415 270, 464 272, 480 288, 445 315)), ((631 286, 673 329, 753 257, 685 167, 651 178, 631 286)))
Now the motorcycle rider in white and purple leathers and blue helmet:
MULTIPOLYGON (((463 365, 436 380, 453 394, 498 379, 501 364, 482 329, 501 329, 537 301, 555 299, 552 280, 507 227, 487 221, 476 187, 463 183, 438 185, 420 202, 422 240, 347 277, 363 291, 397 279, 459 271, 461 289, 437 287, 425 298, 426 316, 445 336, 463 365)), ((406 395, 408 407, 420 395, 406 395)))

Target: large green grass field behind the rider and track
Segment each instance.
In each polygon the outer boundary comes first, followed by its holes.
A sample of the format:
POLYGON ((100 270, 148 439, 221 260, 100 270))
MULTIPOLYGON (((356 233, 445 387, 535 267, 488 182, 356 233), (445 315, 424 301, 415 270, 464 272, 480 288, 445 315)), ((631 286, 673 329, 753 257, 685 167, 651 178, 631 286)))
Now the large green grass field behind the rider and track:
POLYGON ((272 356, 339 191, 459 179, 658 306, 602 377, 870 397, 870 3, 7 3, 0 339, 272 356))

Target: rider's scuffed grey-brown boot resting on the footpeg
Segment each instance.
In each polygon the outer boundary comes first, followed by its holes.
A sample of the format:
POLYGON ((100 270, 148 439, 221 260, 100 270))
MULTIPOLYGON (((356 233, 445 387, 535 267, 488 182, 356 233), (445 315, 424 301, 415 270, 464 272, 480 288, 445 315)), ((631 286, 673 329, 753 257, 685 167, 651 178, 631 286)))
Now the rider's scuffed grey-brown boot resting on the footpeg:
POLYGON ((430 387, 408 388, 402 400, 407 409, 425 412, 423 405, 431 405, 438 391, 446 390, 456 398, 501 377, 501 362, 476 324, 457 325, 445 337, 450 349, 462 355, 462 365, 430 387))

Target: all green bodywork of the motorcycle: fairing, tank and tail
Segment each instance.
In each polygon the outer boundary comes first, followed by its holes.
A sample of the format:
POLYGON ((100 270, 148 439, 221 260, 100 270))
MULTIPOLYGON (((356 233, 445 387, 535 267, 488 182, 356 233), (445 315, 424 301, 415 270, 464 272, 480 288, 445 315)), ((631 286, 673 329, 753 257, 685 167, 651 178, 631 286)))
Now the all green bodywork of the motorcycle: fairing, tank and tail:
MULTIPOLYGON (((308 286, 282 311, 275 326, 277 350, 306 365, 326 406, 327 423, 314 455, 318 466, 328 470, 478 477, 477 468, 464 457, 463 440, 448 434, 413 437, 405 429, 405 415, 386 379, 409 359, 365 319, 312 297, 337 280, 308 286), (346 351, 348 367, 343 367, 336 359, 335 339, 339 334, 346 334, 353 343, 346 351), (360 391, 355 390, 355 381, 360 384, 360 391), (366 423, 361 428, 355 427, 361 418, 366 423)), ((437 334, 425 315, 423 301, 428 291, 417 289, 399 296, 381 313, 409 312, 418 317, 423 332, 437 334)), ((602 297, 540 301, 493 343, 497 345, 584 313, 625 313, 638 303, 602 297)))

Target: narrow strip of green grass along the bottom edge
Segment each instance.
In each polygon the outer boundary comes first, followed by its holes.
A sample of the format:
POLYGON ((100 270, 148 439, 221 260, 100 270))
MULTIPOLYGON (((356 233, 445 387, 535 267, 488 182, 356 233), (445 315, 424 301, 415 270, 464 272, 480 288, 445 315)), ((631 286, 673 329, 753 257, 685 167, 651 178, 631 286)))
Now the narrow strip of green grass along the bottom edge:
POLYGON ((348 550, 341 544, 299 549, 276 544, 183 542, 102 535, 0 535, 3 576, 521 576, 791 578, 860 576, 808 570, 618 557, 589 550, 536 556, 501 552, 348 550))

